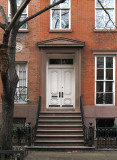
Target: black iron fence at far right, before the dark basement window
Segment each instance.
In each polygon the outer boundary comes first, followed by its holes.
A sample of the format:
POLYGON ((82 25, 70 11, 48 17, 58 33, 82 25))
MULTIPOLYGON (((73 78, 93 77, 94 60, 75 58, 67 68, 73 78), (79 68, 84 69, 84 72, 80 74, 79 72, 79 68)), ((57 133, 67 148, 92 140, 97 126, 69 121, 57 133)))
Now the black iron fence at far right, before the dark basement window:
POLYGON ((98 148, 117 148, 117 128, 97 128, 98 148))

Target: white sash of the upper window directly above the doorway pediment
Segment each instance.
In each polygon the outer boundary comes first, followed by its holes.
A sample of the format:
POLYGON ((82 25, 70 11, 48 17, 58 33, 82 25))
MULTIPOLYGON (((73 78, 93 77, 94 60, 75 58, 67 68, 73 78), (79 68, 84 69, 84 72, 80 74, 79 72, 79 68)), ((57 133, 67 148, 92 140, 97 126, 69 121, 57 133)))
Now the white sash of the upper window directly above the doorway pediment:
MULTIPOLYGON (((51 4, 52 4, 53 0, 51 0, 51 4)), ((71 17, 71 9, 70 9, 70 3, 71 1, 69 0, 69 6, 68 7, 62 7, 62 4, 59 4, 59 6, 53 7, 50 11, 50 28, 54 29, 54 30, 67 30, 71 28, 71 24, 70 24, 70 17, 71 17), (58 17, 56 19, 56 17, 53 16, 53 11, 57 11, 58 12, 58 17), (64 19, 64 15, 62 16, 62 12, 64 11, 68 11, 67 14, 67 18, 64 19), (54 21, 55 20, 55 21, 54 21), (58 24, 56 24, 57 27, 54 27, 54 23, 58 21, 58 24), (68 23, 67 23, 68 22, 68 23)))

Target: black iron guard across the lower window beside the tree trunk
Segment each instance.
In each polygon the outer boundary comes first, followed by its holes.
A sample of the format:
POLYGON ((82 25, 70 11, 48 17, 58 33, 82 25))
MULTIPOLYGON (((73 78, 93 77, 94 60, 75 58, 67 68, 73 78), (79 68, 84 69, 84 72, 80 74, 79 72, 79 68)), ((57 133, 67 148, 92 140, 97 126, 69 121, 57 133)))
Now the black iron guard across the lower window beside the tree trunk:
POLYGON ((27 87, 17 87, 14 102, 27 102, 27 87))

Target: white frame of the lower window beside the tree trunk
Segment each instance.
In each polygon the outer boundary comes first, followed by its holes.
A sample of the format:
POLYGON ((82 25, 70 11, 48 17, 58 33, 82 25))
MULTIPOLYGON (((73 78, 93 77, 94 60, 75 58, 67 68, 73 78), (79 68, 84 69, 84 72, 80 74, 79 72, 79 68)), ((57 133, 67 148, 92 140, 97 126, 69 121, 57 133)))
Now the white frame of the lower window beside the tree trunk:
MULTIPOLYGON (((27 80, 27 73, 28 73, 28 67, 27 67, 27 63, 26 62, 17 62, 16 63, 16 72, 17 72, 17 75, 18 75, 18 77, 19 77, 19 66, 21 65, 21 64, 23 64, 23 65, 25 65, 26 66, 26 88, 27 88, 27 82, 28 82, 28 80, 27 80)), ((17 87, 19 87, 19 82, 18 82, 18 84, 17 84, 17 87)), ((17 103, 20 103, 20 104, 25 104, 25 103, 27 103, 28 102, 28 99, 27 99, 27 89, 26 89, 26 99, 25 99, 25 101, 15 101, 15 103, 17 104, 17 103)))

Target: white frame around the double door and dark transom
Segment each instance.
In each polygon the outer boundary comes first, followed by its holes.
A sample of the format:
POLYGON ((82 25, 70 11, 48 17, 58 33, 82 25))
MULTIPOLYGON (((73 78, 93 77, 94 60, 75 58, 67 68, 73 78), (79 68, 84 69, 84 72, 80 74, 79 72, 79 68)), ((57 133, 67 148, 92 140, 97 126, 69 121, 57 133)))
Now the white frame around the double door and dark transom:
POLYGON ((47 109, 72 109, 72 108, 75 108, 75 60, 74 60, 74 54, 72 55, 68 55, 68 54, 58 54, 58 55, 54 55, 54 54, 48 54, 47 55, 47 60, 46 60, 46 86, 47 86, 47 92, 46 92, 46 108, 47 109), (73 65, 49 65, 49 59, 52 59, 52 58, 56 58, 56 59, 73 59, 73 65), (74 78, 73 78, 73 87, 74 87, 74 93, 73 93, 73 107, 49 107, 49 102, 48 102, 48 70, 49 69, 73 69, 73 75, 74 75, 74 78))

